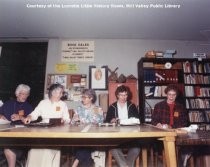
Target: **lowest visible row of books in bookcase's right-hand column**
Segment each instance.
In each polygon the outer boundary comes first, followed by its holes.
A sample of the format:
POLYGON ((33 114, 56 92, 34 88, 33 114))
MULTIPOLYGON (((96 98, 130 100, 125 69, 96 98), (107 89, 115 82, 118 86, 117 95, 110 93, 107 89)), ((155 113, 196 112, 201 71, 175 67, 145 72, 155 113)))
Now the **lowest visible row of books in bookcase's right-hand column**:
POLYGON ((190 122, 209 122, 210 121, 210 110, 204 112, 192 111, 189 112, 190 122))

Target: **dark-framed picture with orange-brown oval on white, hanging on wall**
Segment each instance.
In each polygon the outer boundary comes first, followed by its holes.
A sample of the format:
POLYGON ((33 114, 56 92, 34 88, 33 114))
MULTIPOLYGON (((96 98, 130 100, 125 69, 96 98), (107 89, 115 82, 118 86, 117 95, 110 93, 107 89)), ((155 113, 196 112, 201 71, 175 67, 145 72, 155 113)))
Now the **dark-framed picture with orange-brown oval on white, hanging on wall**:
POLYGON ((89 66, 89 88, 94 90, 107 90, 108 66, 89 66))

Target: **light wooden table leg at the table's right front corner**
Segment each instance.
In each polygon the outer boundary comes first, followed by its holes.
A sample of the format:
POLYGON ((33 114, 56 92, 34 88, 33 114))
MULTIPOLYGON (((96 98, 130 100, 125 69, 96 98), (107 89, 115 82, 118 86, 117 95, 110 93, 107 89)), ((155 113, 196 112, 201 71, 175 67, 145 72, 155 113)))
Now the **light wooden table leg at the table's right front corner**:
POLYGON ((167 167, 177 167, 176 162, 176 150, 175 150, 175 137, 165 137, 163 139, 166 166, 167 167))

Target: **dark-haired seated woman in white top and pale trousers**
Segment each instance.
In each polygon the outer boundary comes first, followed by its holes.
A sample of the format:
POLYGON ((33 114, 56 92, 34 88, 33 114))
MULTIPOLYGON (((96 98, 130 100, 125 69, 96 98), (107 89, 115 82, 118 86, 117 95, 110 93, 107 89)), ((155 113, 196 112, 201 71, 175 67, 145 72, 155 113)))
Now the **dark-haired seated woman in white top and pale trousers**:
MULTIPOLYGON (((49 122, 50 118, 61 118, 62 123, 69 123, 70 117, 68 107, 61 100, 64 88, 60 84, 52 84, 49 88, 49 99, 42 100, 35 110, 29 114, 24 123, 29 124, 33 120, 42 117, 43 122, 49 122)), ((47 167, 60 166, 60 150, 57 149, 31 149, 28 154, 27 166, 47 167)))

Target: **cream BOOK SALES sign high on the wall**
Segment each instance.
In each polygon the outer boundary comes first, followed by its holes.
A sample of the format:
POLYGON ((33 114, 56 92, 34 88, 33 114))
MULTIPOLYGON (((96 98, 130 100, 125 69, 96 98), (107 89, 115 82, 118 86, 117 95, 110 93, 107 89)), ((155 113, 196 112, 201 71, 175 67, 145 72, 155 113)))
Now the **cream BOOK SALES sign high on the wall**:
POLYGON ((93 62, 94 41, 62 41, 62 62, 93 62))

